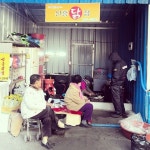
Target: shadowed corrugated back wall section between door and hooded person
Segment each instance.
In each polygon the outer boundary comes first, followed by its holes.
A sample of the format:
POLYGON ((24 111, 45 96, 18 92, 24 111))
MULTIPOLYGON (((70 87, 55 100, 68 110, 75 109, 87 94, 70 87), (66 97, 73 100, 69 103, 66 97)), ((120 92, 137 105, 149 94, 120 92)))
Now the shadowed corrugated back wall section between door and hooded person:
POLYGON ((118 29, 95 30, 95 68, 107 68, 109 54, 118 49, 118 29))

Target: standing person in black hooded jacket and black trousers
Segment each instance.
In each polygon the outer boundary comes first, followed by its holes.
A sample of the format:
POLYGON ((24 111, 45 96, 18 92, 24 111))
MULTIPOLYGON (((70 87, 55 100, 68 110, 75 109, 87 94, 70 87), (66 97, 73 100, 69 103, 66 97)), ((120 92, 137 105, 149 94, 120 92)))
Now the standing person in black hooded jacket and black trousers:
POLYGON ((127 64, 117 52, 112 52, 109 59, 112 62, 111 94, 115 108, 115 113, 111 114, 111 116, 114 118, 120 116, 126 118, 127 115, 125 113, 123 102, 123 89, 127 73, 127 64))

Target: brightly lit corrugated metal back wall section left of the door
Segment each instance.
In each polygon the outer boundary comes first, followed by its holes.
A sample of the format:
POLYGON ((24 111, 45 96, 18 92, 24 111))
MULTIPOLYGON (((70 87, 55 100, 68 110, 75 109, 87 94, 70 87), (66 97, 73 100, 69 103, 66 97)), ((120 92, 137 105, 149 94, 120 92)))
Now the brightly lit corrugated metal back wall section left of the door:
POLYGON ((43 33, 46 35, 45 50, 49 55, 47 73, 68 73, 70 54, 70 30, 43 29, 43 33))

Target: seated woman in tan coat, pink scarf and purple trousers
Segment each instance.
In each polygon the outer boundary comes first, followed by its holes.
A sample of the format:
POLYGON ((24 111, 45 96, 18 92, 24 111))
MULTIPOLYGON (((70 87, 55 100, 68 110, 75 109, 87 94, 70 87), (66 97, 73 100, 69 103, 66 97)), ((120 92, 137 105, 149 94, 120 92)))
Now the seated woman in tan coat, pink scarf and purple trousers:
POLYGON ((64 100, 68 109, 82 112, 81 126, 91 127, 93 105, 87 97, 83 96, 80 89, 81 81, 82 77, 80 75, 73 76, 64 100))

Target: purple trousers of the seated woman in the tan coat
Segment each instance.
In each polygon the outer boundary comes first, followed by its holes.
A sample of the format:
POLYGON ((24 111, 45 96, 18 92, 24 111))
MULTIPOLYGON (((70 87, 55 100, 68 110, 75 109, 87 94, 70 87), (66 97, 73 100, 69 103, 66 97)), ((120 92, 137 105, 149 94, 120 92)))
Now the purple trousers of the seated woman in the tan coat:
POLYGON ((93 113, 93 105, 91 103, 86 103, 79 111, 82 114, 82 120, 91 121, 93 113))

